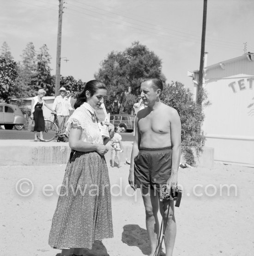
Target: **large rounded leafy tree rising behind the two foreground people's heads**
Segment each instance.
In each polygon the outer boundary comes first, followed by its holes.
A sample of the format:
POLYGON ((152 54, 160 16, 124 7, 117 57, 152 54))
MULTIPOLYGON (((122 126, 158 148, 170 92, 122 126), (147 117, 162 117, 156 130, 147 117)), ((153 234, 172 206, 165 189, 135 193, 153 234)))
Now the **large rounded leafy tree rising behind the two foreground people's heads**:
POLYGON ((126 100, 130 98, 126 95, 139 94, 142 77, 157 76, 165 81, 161 69, 162 61, 159 57, 139 42, 134 42, 123 52, 110 52, 95 74, 96 79, 108 86, 109 97, 105 102, 107 110, 111 113, 119 113, 120 109, 127 109, 130 103, 126 100), (124 107, 115 108, 115 101, 124 107), (126 104, 128 106, 125 107, 126 104))

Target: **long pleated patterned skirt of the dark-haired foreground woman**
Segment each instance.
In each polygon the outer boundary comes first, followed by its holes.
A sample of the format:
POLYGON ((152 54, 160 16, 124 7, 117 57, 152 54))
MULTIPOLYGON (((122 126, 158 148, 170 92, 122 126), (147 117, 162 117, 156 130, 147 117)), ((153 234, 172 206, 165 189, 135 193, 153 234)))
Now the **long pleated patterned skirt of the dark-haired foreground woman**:
POLYGON ((52 219, 48 244, 88 248, 113 237, 108 167, 96 151, 71 154, 52 219))

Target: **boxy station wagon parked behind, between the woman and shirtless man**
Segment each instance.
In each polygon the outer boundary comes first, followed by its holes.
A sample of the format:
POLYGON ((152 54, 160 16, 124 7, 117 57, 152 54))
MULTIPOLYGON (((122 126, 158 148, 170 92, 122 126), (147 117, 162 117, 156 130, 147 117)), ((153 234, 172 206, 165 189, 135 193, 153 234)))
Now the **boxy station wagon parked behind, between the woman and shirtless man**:
POLYGON ((127 114, 114 114, 110 115, 110 123, 115 126, 120 126, 122 132, 133 131, 134 117, 133 115, 127 114))

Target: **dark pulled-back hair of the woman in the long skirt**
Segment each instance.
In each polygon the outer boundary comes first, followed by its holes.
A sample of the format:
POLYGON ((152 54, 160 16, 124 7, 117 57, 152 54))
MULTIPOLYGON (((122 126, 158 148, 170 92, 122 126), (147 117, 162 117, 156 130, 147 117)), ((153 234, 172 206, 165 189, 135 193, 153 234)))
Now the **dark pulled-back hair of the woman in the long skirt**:
POLYGON ((93 94, 95 94, 98 89, 107 89, 107 87, 105 86, 105 84, 103 84, 103 82, 98 80, 91 80, 87 82, 82 93, 77 95, 77 101, 74 104, 74 108, 78 108, 86 101, 86 91, 89 91, 91 96, 93 96, 93 94))

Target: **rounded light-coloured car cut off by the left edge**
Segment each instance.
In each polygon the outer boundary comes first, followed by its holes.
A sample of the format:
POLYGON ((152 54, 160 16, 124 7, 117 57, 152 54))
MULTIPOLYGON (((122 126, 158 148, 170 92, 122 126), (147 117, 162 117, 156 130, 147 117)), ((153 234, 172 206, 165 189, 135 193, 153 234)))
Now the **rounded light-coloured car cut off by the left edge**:
POLYGON ((4 125, 6 130, 11 130, 13 126, 22 130, 25 124, 26 119, 18 106, 0 103, 0 125, 4 125))

